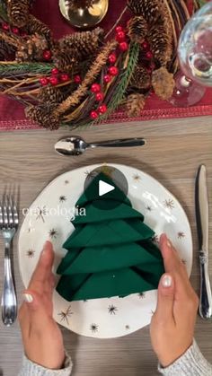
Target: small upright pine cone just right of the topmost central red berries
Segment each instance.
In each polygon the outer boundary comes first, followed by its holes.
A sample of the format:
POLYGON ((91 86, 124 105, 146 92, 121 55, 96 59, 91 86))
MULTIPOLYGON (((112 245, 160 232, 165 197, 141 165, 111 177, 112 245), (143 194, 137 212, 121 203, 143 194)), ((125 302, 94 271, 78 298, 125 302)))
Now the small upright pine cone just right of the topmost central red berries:
POLYGON ((128 22, 128 36, 133 42, 143 43, 147 34, 147 22, 142 15, 128 22))

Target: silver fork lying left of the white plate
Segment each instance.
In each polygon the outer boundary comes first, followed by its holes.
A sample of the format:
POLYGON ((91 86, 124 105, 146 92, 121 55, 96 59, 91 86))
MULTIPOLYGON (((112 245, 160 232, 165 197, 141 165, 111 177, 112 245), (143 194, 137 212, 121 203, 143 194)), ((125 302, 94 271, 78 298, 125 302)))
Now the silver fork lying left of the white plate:
POLYGON ((17 318, 17 298, 13 283, 11 245, 19 224, 17 206, 13 196, 3 197, 0 203, 0 231, 4 238, 4 290, 2 295, 2 320, 10 327, 17 318))

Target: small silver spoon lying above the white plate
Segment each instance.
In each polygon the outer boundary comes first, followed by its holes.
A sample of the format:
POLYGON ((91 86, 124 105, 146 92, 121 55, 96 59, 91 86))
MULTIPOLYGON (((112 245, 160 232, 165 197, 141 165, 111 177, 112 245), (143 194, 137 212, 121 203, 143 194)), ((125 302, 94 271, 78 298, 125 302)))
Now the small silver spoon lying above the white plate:
POLYGON ((129 147, 143 146, 146 144, 144 138, 123 138, 120 140, 102 141, 88 144, 79 136, 63 137, 55 144, 55 150, 60 155, 81 155, 86 149, 96 147, 129 147))

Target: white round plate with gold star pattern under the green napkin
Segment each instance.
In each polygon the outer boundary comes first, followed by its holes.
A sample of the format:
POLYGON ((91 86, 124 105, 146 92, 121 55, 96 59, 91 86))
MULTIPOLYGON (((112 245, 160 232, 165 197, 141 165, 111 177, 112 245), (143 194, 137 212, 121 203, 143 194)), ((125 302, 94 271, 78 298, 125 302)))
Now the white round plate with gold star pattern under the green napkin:
MULTIPOLYGON (((46 240, 51 240, 56 253, 54 270, 66 254, 62 244, 74 231, 70 223, 77 199, 84 190, 84 179, 100 164, 68 171, 43 189, 32 203, 22 223, 19 237, 19 263, 22 281, 30 282, 32 272, 46 240), (71 210, 70 210, 71 209, 71 210)), ((192 267, 192 239, 190 223, 178 200, 157 180, 143 171, 108 164, 119 169, 128 179, 128 197, 135 209, 145 215, 145 223, 154 231, 156 239, 166 232, 190 275, 192 267)), ((132 294, 126 298, 97 299, 87 302, 66 302, 54 292, 54 319, 64 327, 87 337, 121 337, 145 327, 151 321, 157 292, 132 294)))

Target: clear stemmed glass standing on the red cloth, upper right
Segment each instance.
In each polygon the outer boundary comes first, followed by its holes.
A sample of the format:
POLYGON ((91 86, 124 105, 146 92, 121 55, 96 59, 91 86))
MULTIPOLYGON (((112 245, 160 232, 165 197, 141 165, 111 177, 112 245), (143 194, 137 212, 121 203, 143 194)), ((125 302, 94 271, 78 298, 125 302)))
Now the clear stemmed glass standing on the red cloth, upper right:
POLYGON ((181 71, 175 76, 171 103, 187 107, 199 102, 212 86, 212 1, 187 22, 178 46, 181 71))

